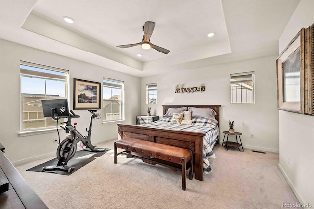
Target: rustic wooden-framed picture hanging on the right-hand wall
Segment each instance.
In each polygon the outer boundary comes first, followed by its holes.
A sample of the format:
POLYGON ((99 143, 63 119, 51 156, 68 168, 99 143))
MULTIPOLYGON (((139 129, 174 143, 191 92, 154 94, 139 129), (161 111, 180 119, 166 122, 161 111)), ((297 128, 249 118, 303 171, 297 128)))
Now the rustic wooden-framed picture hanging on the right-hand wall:
POLYGON ((302 28, 276 59, 279 110, 314 115, 313 34, 302 28))

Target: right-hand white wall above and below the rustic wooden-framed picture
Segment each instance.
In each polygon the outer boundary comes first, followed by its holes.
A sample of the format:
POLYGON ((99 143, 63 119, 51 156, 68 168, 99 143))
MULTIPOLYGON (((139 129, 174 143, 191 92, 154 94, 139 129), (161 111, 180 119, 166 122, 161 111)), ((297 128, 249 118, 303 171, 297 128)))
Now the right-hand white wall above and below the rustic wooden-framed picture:
MULTIPOLYGON (((279 52, 313 23, 314 1, 301 0, 279 39, 279 52)), ((280 110, 279 144, 279 169, 300 203, 314 206, 314 117, 280 110)))

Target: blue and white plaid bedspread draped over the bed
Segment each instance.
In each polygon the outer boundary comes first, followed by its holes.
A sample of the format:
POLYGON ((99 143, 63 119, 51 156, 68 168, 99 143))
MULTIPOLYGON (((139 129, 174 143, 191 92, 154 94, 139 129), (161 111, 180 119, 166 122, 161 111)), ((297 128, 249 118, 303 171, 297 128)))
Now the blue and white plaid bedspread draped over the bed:
POLYGON ((219 128, 217 123, 209 119, 194 118, 192 119, 192 125, 183 125, 171 124, 170 120, 171 118, 162 118, 160 121, 138 126, 205 133, 206 135, 203 136, 203 171, 205 174, 211 172, 212 168, 209 159, 216 158, 212 149, 216 141, 219 139, 219 128))

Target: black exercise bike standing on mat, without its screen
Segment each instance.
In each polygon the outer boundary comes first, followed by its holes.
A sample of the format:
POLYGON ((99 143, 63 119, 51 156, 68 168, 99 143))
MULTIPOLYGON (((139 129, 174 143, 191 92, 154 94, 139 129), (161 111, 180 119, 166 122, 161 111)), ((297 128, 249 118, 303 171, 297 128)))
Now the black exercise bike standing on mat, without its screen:
MULTIPOLYGON (((61 117, 55 117, 55 112, 52 109, 52 118, 54 120, 58 120, 61 117)), ((79 115, 76 115, 72 110, 70 110, 71 113, 69 113, 69 116, 66 116, 68 120, 66 122, 63 122, 61 124, 66 124, 65 127, 60 126, 62 129, 65 130, 66 133, 69 133, 66 135, 65 139, 60 143, 57 149, 57 158, 58 158, 58 164, 56 166, 45 166, 42 168, 42 171, 54 171, 54 170, 61 170, 71 173, 75 168, 72 166, 68 166, 67 163, 72 157, 75 155, 77 151, 77 143, 81 142, 81 145, 85 150, 91 151, 91 152, 104 152, 110 149, 106 148, 96 148, 96 146, 92 145, 90 139, 91 139, 91 132, 92 132, 92 122, 93 119, 99 119, 100 114, 95 113, 97 110, 87 110, 91 113, 90 116, 90 124, 89 124, 89 130, 87 136, 83 136, 77 129, 76 124, 74 123, 74 126, 71 124, 72 118, 79 118, 79 115)))

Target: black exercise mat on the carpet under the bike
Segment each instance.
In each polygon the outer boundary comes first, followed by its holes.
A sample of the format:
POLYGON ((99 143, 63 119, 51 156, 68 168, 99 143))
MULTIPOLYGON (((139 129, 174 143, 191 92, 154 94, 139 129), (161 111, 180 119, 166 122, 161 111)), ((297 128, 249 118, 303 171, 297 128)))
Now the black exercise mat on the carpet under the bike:
MULTIPOLYGON (((72 166, 75 167, 75 169, 69 173, 66 171, 43 171, 46 173, 56 173, 56 174, 63 174, 63 175, 70 175, 74 172, 76 172, 78 169, 80 169, 81 167, 83 167, 84 165, 87 165, 88 163, 90 163, 91 161, 93 161, 94 159, 101 157, 102 155, 104 155, 106 152, 108 152, 110 149, 105 149, 104 152, 91 152, 91 151, 86 151, 86 150, 80 150, 77 151, 75 153, 75 155, 72 157, 72 159, 70 159, 68 161, 68 166, 72 166)), ((58 159, 54 158, 52 160, 49 160, 45 163, 42 163, 40 165, 37 165, 33 168, 30 168, 26 171, 38 171, 38 172, 42 172, 42 168, 48 165, 57 165, 58 164, 58 159)))

